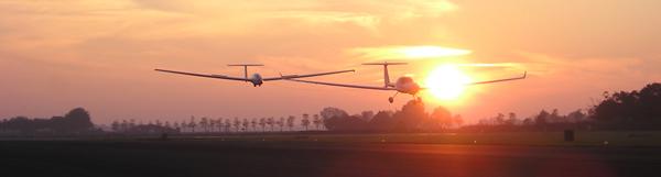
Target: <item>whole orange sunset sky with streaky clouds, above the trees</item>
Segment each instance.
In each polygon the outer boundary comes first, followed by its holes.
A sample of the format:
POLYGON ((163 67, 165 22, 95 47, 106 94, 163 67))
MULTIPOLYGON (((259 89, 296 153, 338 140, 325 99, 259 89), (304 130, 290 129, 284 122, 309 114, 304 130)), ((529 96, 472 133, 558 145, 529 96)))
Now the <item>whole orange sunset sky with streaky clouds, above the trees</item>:
POLYGON ((75 107, 112 120, 262 118, 395 110, 411 97, 299 82, 250 84, 167 75, 154 68, 241 76, 356 69, 314 78, 382 85, 375 60, 400 60, 391 76, 422 85, 455 64, 474 80, 525 80, 465 88, 442 100, 467 122, 541 109, 585 109, 604 91, 661 80, 658 0, 1 0, 0 118, 50 118, 75 107), (401 48, 441 48, 401 55, 401 48), (416 54, 427 54, 425 52, 416 54), (432 52, 434 54, 434 52, 432 52))

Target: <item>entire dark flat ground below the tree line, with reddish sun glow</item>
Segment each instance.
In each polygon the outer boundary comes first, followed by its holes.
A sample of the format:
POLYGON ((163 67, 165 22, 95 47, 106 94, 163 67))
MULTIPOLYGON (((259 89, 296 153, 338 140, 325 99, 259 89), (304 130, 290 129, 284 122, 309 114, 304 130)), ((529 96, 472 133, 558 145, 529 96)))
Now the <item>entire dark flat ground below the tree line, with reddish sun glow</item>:
POLYGON ((660 137, 576 132, 575 142, 564 142, 563 132, 517 132, 23 139, 0 141, 0 176, 658 176, 660 137))

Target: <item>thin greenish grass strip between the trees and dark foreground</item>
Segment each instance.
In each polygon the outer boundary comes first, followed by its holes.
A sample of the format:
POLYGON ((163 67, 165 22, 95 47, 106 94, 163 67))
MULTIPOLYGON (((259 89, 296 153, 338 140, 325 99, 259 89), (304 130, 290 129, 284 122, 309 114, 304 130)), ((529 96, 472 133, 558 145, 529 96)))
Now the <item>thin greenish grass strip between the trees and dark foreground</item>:
POLYGON ((533 146, 661 146, 661 132, 576 132, 565 142, 563 132, 414 133, 414 134, 237 134, 220 136, 177 135, 173 139, 219 139, 220 141, 485 144, 533 146))

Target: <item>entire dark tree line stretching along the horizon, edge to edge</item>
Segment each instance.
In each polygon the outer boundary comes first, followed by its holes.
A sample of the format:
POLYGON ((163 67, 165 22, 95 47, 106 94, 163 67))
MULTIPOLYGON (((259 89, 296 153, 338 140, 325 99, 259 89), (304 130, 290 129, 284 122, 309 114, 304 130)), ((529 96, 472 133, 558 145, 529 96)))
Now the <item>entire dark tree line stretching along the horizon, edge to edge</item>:
MULTIPOLYGON (((346 111, 328 107, 318 114, 259 119, 196 119, 186 121, 160 121, 147 124, 136 120, 111 123, 112 132, 120 133, 239 133, 284 131, 330 132, 444 132, 453 131, 557 131, 575 130, 661 130, 661 84, 649 84, 640 90, 604 92, 603 99, 587 109, 561 114, 557 109, 541 110, 520 119, 517 113, 497 113, 480 119, 476 124, 464 124, 459 114, 437 107, 425 111, 419 100, 407 102, 395 111, 364 111, 350 115, 346 111)), ((29 119, 14 117, 0 121, 1 134, 83 134, 98 133, 89 113, 76 108, 63 117, 29 119)))

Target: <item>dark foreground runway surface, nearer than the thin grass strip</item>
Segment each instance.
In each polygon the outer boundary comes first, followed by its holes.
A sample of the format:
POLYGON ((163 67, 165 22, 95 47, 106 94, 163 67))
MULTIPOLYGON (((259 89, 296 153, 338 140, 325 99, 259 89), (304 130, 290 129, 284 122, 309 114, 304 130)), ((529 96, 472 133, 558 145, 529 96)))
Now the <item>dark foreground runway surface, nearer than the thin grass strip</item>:
MULTIPOLYGON (((389 143, 4 141, 15 176, 659 176, 661 150, 389 143)), ((4 176, 4 175, 2 175, 4 176)))

